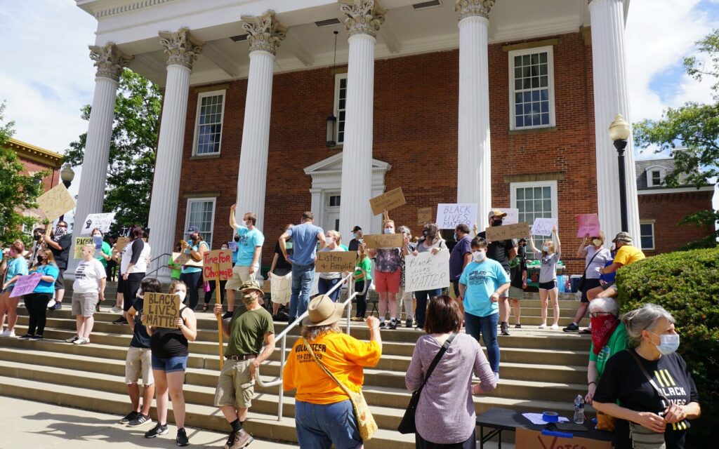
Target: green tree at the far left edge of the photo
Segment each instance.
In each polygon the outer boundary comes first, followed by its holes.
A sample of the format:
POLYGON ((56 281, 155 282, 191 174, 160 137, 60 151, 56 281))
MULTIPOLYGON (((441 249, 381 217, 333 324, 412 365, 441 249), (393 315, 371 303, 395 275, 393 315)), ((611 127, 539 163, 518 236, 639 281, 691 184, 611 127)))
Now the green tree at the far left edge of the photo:
POLYGON ((5 144, 14 133, 14 121, 5 123, 5 102, 0 103, 0 245, 6 246, 21 239, 30 244, 22 227, 32 226, 37 220, 26 217, 23 210, 37 208, 37 197, 42 194, 42 178, 46 171, 22 175, 25 170, 17 154, 5 144))

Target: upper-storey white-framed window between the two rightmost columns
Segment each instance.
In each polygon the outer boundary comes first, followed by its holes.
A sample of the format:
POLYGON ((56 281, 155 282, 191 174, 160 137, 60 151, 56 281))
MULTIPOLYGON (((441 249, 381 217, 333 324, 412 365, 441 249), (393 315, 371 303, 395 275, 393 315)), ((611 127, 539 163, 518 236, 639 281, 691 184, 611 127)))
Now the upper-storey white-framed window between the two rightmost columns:
POLYGON ((554 126, 553 47, 509 52, 510 129, 554 126))

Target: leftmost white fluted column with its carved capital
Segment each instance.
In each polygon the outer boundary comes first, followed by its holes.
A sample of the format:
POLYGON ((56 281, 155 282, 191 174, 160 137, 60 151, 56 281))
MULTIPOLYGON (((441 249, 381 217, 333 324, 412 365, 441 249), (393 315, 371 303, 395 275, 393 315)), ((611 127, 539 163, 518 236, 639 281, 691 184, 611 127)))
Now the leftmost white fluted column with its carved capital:
MULTIPOLYGON (((90 213, 102 212, 117 85, 122 70, 132 60, 132 57, 117 50, 112 42, 104 47, 91 45, 89 48, 90 58, 95 61, 97 73, 85 142, 85 154, 83 154, 78 203, 75 207, 76 225, 73 226, 73 242, 75 241, 74 237, 80 236, 82 223, 86 216, 90 213)), ((68 277, 75 273, 77 264, 78 259, 69 260, 68 277)))

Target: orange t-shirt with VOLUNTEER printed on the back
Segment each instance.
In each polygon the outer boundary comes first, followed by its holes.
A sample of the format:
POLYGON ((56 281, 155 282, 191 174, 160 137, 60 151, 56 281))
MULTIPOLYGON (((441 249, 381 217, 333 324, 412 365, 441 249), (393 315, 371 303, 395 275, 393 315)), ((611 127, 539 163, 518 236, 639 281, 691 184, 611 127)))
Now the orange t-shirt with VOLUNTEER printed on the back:
MULTIPOLYGON (((365 381, 362 367, 377 365, 382 356, 382 348, 376 341, 361 341, 344 333, 325 333, 311 345, 317 358, 352 392, 362 389, 365 381)), ((285 364, 283 389, 297 389, 295 398, 312 404, 334 404, 349 399, 316 364, 302 338, 292 346, 285 364)))

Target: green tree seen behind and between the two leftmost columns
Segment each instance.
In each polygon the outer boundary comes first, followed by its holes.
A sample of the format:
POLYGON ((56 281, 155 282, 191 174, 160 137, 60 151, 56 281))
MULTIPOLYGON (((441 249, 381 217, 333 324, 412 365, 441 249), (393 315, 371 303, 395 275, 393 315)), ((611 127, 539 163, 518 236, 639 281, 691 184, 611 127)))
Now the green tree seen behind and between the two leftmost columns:
MULTIPOLYGON (((115 101, 103 205, 103 212, 116 213, 113 232, 133 223, 147 225, 161 107, 160 87, 132 70, 124 70, 115 101)), ((83 119, 90 119, 90 110, 90 105, 83 106, 83 119)), ((71 143, 63 162, 81 165, 86 139, 87 133, 71 143)))

